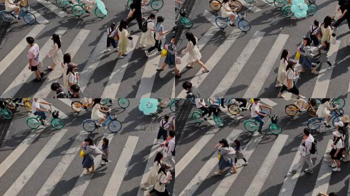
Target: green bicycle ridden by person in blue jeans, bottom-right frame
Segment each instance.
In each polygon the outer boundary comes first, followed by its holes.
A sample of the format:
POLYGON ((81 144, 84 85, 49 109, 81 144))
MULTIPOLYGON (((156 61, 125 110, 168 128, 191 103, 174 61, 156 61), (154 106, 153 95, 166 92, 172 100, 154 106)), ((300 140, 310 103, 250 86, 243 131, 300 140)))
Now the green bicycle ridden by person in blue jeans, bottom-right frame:
MULTIPOLYGON (((271 122, 269 124, 269 130, 274 135, 279 135, 282 132, 282 126, 280 126, 278 121, 278 116, 272 115, 271 110, 270 114, 268 114, 271 122)), ((259 129, 260 123, 256 121, 255 119, 248 119, 244 121, 244 128, 249 132, 254 132, 259 129)))

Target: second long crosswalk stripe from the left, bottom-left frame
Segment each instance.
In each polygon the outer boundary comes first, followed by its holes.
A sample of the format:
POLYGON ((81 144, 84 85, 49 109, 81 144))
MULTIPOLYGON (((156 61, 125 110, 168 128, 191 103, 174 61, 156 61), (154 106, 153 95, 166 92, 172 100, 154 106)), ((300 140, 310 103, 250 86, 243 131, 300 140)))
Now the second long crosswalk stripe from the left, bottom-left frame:
POLYGON ((35 158, 29 163, 26 169, 19 175, 16 181, 11 185, 11 187, 5 192, 4 196, 18 195, 19 191, 26 185, 29 179, 34 175, 35 171, 39 166, 45 161, 45 159, 54 150, 55 146, 61 140, 68 129, 58 130, 55 135, 46 143, 41 151, 35 156, 35 158))

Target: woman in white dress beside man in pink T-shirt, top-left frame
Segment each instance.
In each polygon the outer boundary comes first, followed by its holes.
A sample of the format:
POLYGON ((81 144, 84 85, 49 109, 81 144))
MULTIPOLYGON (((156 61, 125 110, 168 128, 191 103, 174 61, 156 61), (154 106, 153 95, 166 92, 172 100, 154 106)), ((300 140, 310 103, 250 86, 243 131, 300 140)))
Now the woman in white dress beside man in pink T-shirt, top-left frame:
POLYGON ((63 68, 63 54, 61 51, 61 40, 59 39, 59 35, 53 34, 51 39, 53 40, 53 45, 48 57, 52 57, 52 64, 51 66, 48 66, 48 69, 54 70, 56 65, 61 65, 63 68))

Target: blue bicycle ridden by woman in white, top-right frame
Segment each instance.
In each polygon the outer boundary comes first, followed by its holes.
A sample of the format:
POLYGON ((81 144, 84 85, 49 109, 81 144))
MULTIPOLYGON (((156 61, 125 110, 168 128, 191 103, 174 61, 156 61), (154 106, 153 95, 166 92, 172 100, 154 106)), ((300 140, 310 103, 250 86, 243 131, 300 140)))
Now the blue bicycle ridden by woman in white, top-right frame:
MULTIPOLYGON (((238 28, 243 32, 248 32, 251 28, 250 22, 248 20, 245 20, 246 16, 246 13, 237 13, 237 17, 233 21, 233 24, 235 24, 238 21, 238 28)), ((217 27, 219 27, 222 30, 224 30, 228 26, 229 22, 231 22, 230 17, 216 16, 215 18, 215 23, 217 27)))

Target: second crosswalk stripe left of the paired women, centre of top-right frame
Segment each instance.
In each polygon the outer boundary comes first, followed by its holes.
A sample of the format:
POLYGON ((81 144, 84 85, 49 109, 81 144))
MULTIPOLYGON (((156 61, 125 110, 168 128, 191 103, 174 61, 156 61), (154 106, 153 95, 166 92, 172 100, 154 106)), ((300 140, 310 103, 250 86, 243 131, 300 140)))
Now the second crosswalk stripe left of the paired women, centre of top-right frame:
POLYGON ((230 89, 232 83, 239 76, 240 71, 243 70, 246 62, 252 56, 255 48, 260 43, 262 37, 264 37, 265 33, 257 31, 253 35, 253 37, 249 40, 246 47, 243 49, 244 52, 240 53, 239 57, 232 64, 230 70, 227 72, 223 80, 220 84, 215 88, 214 92, 210 97, 224 97, 227 91, 230 89))

